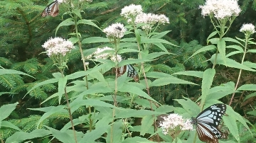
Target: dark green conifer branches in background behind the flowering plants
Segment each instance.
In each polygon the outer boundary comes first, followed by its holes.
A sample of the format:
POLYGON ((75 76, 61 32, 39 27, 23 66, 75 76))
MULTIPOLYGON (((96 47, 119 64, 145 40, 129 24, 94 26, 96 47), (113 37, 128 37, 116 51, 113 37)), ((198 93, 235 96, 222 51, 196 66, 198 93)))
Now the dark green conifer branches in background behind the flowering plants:
MULTIPOLYGON (((163 55, 161 58, 150 62, 150 71, 159 71, 166 74, 174 74, 178 71, 204 71, 210 68, 212 65, 207 62, 210 59, 210 55, 213 55, 214 51, 201 52, 200 54, 188 59, 194 52, 201 49, 206 45, 206 38, 213 32, 213 27, 210 24, 208 17, 203 18, 201 16, 201 10, 198 9, 199 5, 203 5, 203 0, 146 0, 146 1, 99 1, 95 0, 90 5, 83 8, 84 13, 82 17, 90 20, 94 20, 100 28, 106 28, 112 23, 124 23, 124 19, 119 16, 119 13, 124 6, 129 4, 140 4, 144 8, 144 12, 151 13, 163 13, 169 17, 170 24, 161 26, 159 31, 171 30, 168 35, 164 37, 165 40, 172 42, 179 47, 166 45, 166 49, 175 55, 163 55)), ((19 74, 1 74, 0 75, 0 91, 8 92, 0 95, 0 106, 16 103, 18 106, 14 112, 9 115, 9 122, 19 127, 24 132, 32 132, 36 129, 38 120, 43 113, 38 110, 28 110, 28 108, 42 108, 52 107, 58 105, 58 98, 52 98, 45 103, 50 95, 58 92, 58 84, 45 84, 40 88, 34 88, 33 86, 42 81, 53 78, 53 73, 58 69, 53 67, 53 62, 45 55, 43 43, 50 37, 55 37, 55 28, 60 22, 65 19, 65 8, 60 5, 60 14, 55 18, 41 17, 41 12, 49 4, 49 1, 38 0, 17 0, 0 1, 0 66, 5 69, 15 69, 17 71, 23 71, 31 76, 24 76, 19 74), (62 17, 63 16, 63 17, 62 17), (26 95, 26 96, 25 96, 26 95)), ((255 23, 256 16, 256 1, 253 0, 240 0, 240 8, 242 13, 235 19, 233 27, 228 33, 228 37, 242 36, 239 32, 243 23, 255 23)), ((58 30, 57 36, 61 38, 70 38, 69 33, 73 31, 73 25, 61 27, 58 30)), ((79 25, 79 29, 82 32, 82 39, 90 37, 105 37, 105 33, 94 28, 90 25, 79 25)), ((255 35, 253 35, 255 38, 255 35)), ((95 43, 82 45, 83 50, 90 50, 96 48, 95 43)), ((254 45, 255 46, 255 45, 254 45)), ((251 47, 255 49, 255 47, 251 47)), ((159 52, 159 49, 152 48, 150 52, 159 52)), ((86 53, 85 53, 86 54, 86 53)), ((69 63, 66 74, 72 74, 76 71, 82 70, 81 57, 78 48, 73 50, 68 55, 69 63)), ((125 58, 137 58, 137 55, 126 53, 125 58)), ((240 61, 241 57, 233 56, 233 59, 240 61)), ((246 59, 251 62, 256 62, 255 55, 248 54, 246 59)), ((147 66, 147 64, 145 64, 147 66)), ((134 67, 137 68, 135 65, 134 67)), ((215 80, 213 86, 218 86, 230 81, 236 82, 239 69, 230 69, 224 66, 217 66, 215 74, 215 80)), ((105 74, 105 78, 113 76, 112 71, 108 71, 105 74)), ((196 84, 201 84, 201 79, 192 76, 177 75, 179 79, 191 81, 196 84)), ((82 81, 82 77, 80 78, 82 81)), ((243 71, 240 85, 242 84, 255 84, 255 72, 243 71)), ((169 84, 166 86, 158 86, 150 88, 151 97, 161 104, 180 106, 174 99, 180 99, 183 97, 191 98, 192 101, 201 95, 201 87, 187 84, 169 84)), ((235 101, 231 105, 234 110, 249 120, 252 125, 256 124, 255 119, 255 96, 252 98, 245 98, 247 95, 253 93, 252 91, 245 91, 235 94, 235 101), (251 112, 248 114, 248 112, 251 112)), ((69 93, 69 97, 77 96, 76 93, 69 93)), ((100 95, 98 95, 100 96, 100 95)), ((223 103, 228 103, 231 96, 225 96, 221 99, 223 103)), ((63 98, 64 99, 64 98, 63 98)), ((61 101, 62 105, 65 105, 65 101, 61 101)), ((125 104, 124 104, 125 106, 125 104)), ((144 107, 134 107, 144 108, 144 107)), ((78 118, 81 115, 87 115, 88 110, 80 107, 73 113, 73 118, 78 118)), ((41 123, 52 127, 55 130, 60 130, 66 123, 69 122, 68 113, 54 113, 50 115, 41 123)), ((77 126, 81 132, 86 132, 88 127, 84 125, 77 126), (82 126, 82 127, 81 127, 82 126)), ((240 133, 244 128, 240 127, 240 133)), ((6 139, 16 132, 14 129, 3 128, 0 130, 0 138, 6 139)), ((254 130, 253 135, 256 132, 254 130)), ((247 137, 241 135, 241 142, 253 142, 253 137, 247 137)), ((39 139, 42 142, 41 139, 39 139)), ((43 139, 43 142, 47 142, 48 139, 43 139)), ((34 142, 38 142, 34 139, 34 142)), ((52 142, 56 142, 54 139, 52 142)))

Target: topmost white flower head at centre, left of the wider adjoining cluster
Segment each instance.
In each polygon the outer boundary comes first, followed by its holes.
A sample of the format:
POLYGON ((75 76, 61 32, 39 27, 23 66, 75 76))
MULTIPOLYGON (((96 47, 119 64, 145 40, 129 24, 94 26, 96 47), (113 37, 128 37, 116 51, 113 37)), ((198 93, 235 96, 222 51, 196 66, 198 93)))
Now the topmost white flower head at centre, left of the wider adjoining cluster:
POLYGON ((131 22, 140 13, 142 13, 142 6, 131 4, 122 8, 121 16, 124 16, 128 22, 131 22))

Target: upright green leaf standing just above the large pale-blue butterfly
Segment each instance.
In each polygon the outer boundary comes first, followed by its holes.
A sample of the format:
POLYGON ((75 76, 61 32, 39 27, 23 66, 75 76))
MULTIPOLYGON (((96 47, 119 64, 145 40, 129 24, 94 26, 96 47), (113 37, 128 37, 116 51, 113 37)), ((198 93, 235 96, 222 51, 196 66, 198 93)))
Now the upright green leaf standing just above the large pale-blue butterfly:
POLYGON ((210 91, 210 86, 213 84, 213 77, 215 76, 215 69, 206 69, 203 72, 203 80, 202 80, 202 96, 201 96, 201 110, 203 109, 203 105, 206 102, 206 97, 210 91))

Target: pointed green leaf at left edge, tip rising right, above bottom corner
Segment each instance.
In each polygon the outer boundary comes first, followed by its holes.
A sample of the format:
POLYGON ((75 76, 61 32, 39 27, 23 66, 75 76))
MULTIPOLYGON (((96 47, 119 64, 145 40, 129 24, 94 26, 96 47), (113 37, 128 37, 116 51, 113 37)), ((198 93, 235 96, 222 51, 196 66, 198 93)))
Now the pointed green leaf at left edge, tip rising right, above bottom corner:
MULTIPOLYGON (((12 113, 12 111, 14 111, 14 109, 16 108, 16 105, 18 105, 18 102, 13 103, 13 104, 6 104, 6 105, 2 105, 0 108, 0 123, 2 120, 4 120, 5 118, 8 118, 8 116, 12 113)), ((0 124, 1 125, 1 124, 0 124)))

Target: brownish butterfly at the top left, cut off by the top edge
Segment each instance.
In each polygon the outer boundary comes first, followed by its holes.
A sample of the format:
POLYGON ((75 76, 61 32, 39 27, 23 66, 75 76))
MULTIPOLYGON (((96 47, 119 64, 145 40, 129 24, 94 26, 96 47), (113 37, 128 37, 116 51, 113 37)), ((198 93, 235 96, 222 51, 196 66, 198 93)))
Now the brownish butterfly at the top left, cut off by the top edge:
POLYGON ((59 7, 58 7, 58 1, 55 0, 52 3, 50 3, 46 8, 43 10, 41 16, 46 17, 46 16, 58 16, 59 12, 59 7))

